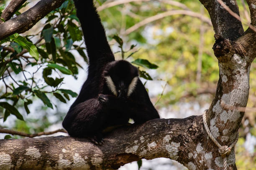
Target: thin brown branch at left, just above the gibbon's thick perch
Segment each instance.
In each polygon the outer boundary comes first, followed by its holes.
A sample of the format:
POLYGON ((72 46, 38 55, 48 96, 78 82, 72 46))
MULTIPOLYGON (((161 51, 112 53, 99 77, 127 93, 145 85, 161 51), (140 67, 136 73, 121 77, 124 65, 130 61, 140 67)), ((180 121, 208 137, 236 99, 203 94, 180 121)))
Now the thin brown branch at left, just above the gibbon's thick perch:
POLYGON ((64 130, 64 129, 54 130, 54 131, 51 131, 51 132, 39 132, 39 133, 33 133, 33 134, 18 132, 18 131, 9 130, 9 129, 0 129, 0 133, 8 133, 8 134, 11 134, 11 135, 20 135, 20 136, 25 136, 25 137, 28 137, 28 138, 33 138, 33 137, 41 136, 41 135, 51 135, 51 134, 54 134, 54 133, 57 133, 57 132, 67 133, 67 131, 64 130))

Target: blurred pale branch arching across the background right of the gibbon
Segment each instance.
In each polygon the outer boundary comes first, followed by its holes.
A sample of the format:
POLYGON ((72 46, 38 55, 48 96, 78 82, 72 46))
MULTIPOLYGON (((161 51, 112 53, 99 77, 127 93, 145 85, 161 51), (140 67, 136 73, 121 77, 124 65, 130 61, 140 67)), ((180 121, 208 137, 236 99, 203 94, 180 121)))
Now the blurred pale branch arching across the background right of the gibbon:
POLYGON ((188 11, 188 10, 171 10, 171 11, 167 11, 164 13, 160 13, 157 15, 154 15, 152 17, 146 18, 145 20, 142 20, 141 22, 133 25, 132 27, 128 28, 127 30, 125 30, 125 35, 130 34, 131 32, 137 30, 138 28, 142 27, 143 25, 146 25, 148 23, 151 23, 155 20, 159 20, 161 18, 167 17, 167 16, 171 16, 171 15, 189 15, 195 18, 199 18, 200 20, 202 20, 203 22, 207 23, 208 25, 212 25, 211 21, 202 16, 200 13, 195 13, 192 11, 188 11))

